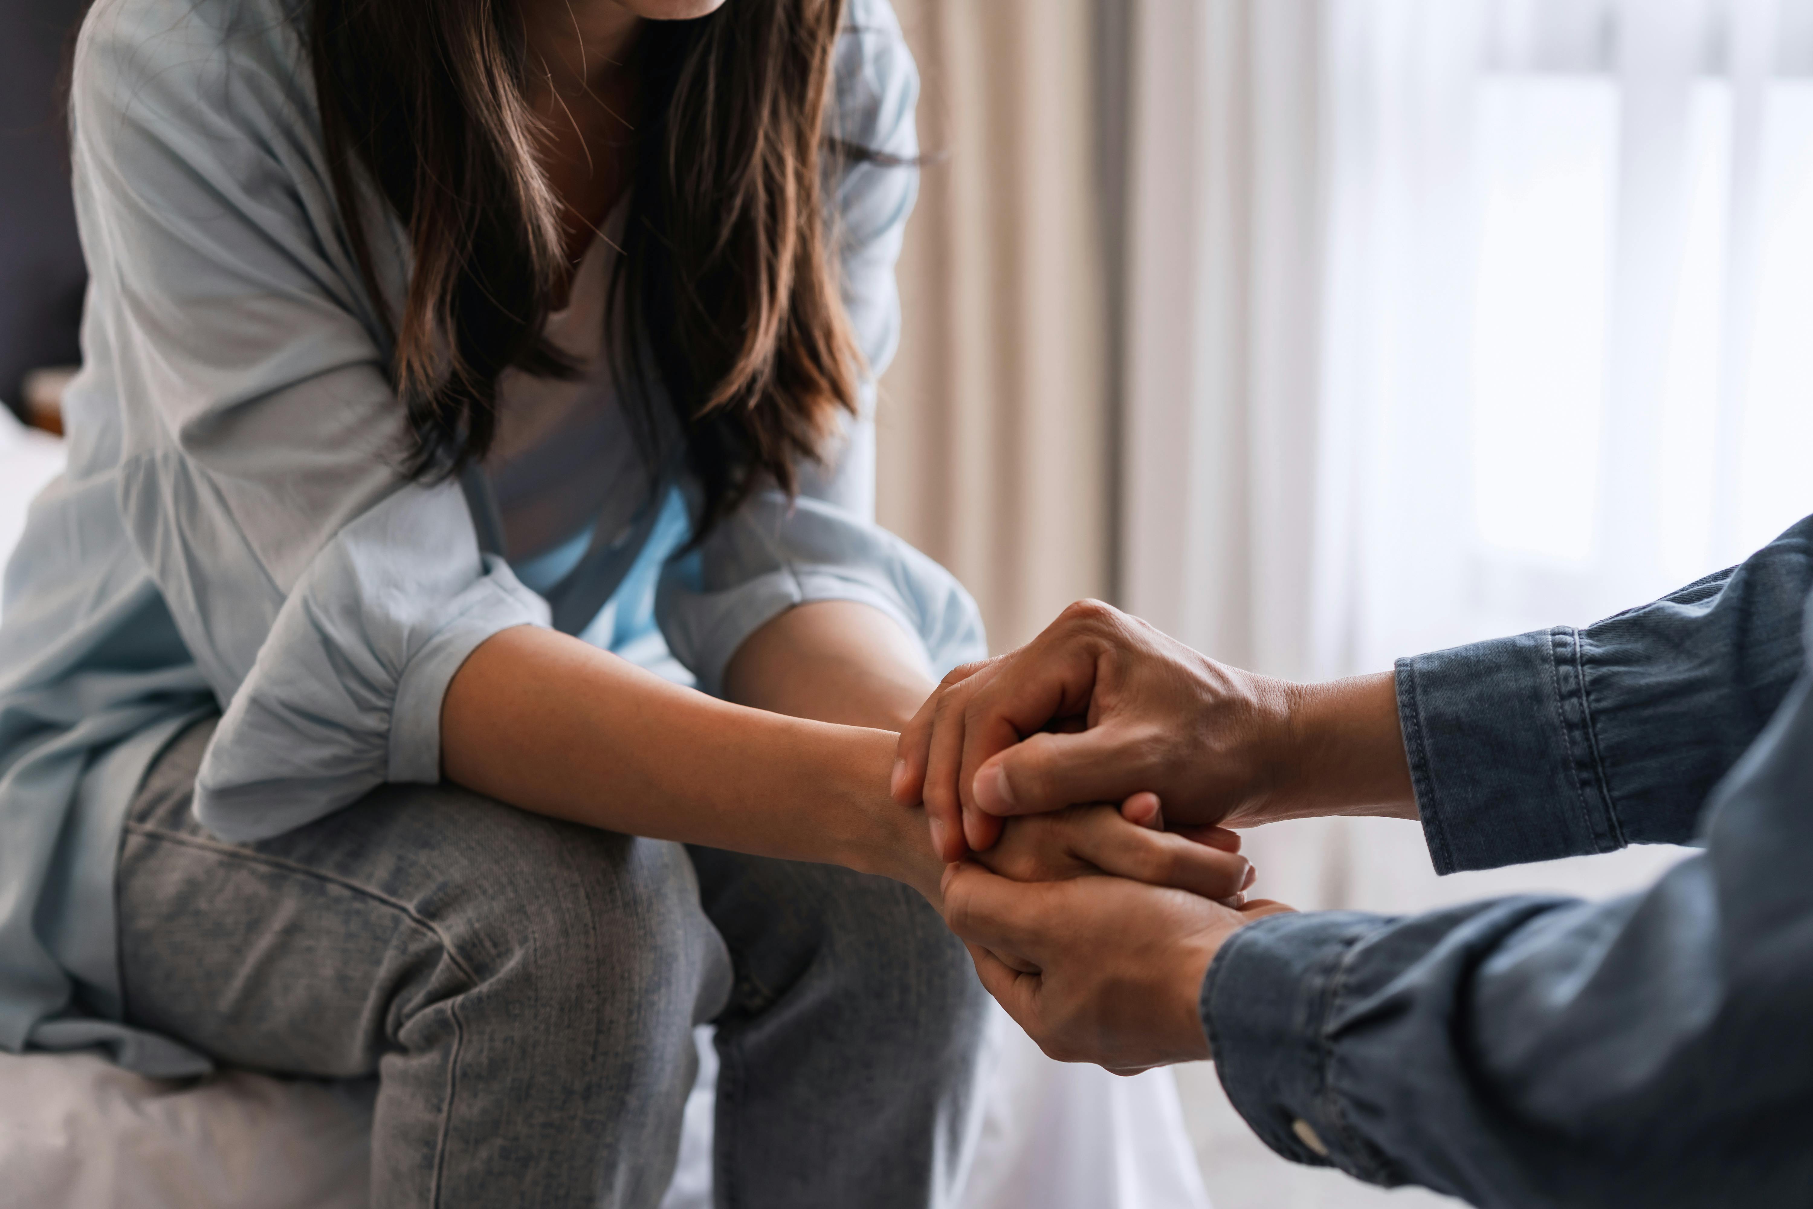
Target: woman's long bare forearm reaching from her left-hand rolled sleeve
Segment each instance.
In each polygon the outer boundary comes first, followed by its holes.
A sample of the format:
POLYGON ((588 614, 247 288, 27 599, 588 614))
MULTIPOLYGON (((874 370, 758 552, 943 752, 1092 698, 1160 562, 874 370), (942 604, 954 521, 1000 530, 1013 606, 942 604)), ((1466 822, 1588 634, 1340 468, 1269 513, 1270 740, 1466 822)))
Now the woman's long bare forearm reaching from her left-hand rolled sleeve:
POLYGON ((682 689, 577 638, 508 629, 448 685, 448 779, 591 827, 821 861, 936 894, 925 825, 887 792, 896 736, 682 689))

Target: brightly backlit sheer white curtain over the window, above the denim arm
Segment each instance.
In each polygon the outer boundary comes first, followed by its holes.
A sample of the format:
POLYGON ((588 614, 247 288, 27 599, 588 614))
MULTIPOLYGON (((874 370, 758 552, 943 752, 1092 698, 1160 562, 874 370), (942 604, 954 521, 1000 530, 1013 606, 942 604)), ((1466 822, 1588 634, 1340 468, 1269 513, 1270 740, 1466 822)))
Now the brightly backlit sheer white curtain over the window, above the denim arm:
POLYGON ((1813 511, 1813 5, 1325 20, 1318 669, 1586 622, 1813 511))

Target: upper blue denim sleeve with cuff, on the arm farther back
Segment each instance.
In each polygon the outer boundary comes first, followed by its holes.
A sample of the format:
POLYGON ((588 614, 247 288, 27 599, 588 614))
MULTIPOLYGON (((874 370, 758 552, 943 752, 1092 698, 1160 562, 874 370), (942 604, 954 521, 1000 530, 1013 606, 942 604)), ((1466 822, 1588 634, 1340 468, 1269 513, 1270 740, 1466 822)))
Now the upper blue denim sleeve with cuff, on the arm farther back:
POLYGON ((1737 567, 1586 629, 1398 662, 1441 874, 1686 843, 1800 663, 1813 517, 1737 567))

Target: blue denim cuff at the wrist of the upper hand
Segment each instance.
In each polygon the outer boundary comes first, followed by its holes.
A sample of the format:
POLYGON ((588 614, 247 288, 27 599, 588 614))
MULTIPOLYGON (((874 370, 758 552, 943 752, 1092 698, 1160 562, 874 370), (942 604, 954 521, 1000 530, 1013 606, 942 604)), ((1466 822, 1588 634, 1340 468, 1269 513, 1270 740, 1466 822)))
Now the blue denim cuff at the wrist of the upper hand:
POLYGON ((1438 874, 1624 846, 1572 627, 1398 660, 1398 720, 1438 874))

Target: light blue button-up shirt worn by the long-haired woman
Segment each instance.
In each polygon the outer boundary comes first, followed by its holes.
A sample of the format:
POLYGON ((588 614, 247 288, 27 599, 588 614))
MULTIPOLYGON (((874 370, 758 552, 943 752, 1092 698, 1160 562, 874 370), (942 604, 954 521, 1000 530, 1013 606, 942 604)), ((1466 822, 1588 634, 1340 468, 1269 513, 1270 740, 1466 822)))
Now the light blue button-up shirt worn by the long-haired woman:
MULTIPOLYGON (((0 1046, 105 1044, 205 1066, 118 1022, 112 868, 125 807, 190 720, 221 721, 196 814, 281 834, 384 781, 437 781, 441 700, 486 638, 555 624, 671 651, 716 689, 807 600, 861 600, 930 665, 981 653, 975 607, 877 529, 872 384, 836 466, 756 495, 696 551, 684 475, 600 515, 558 575, 500 556, 482 475, 399 473, 406 422, 328 183, 292 0, 100 0, 76 49, 74 192, 91 270, 69 468, 34 502, 0 620, 0 1046), (542 571, 537 580, 531 571, 542 571), (658 636, 656 636, 658 634, 658 636), (664 642, 662 642, 664 640, 664 642)), ((917 76, 885 0, 838 47, 838 134, 914 156, 917 76)), ((836 183, 845 305, 894 353, 910 169, 836 183)), ((377 232, 401 295, 401 230, 377 232)))

